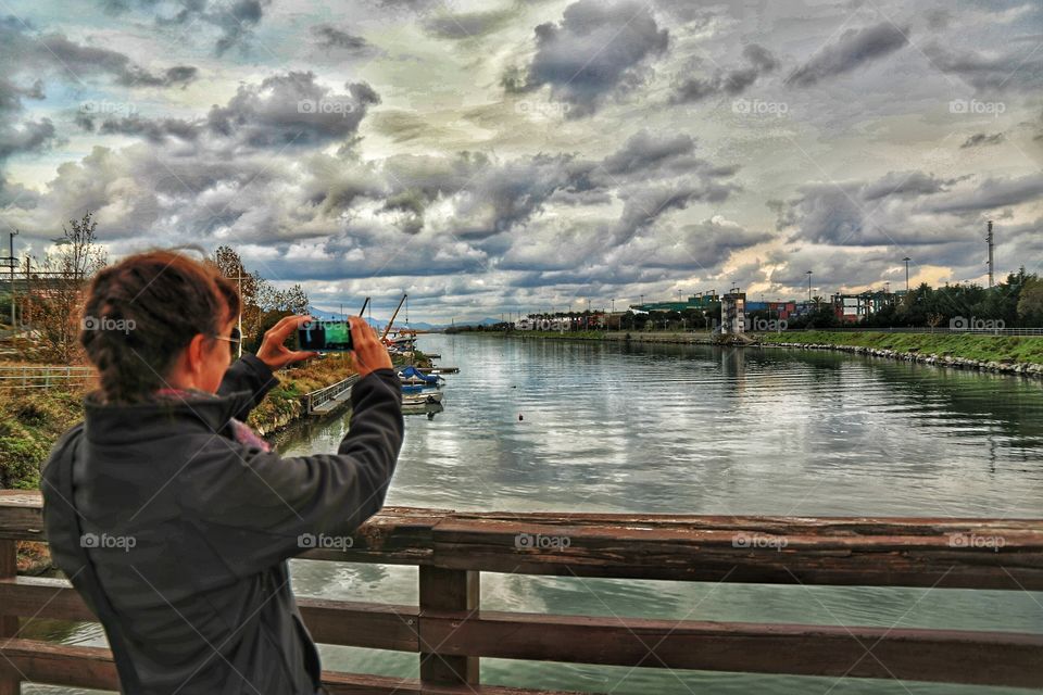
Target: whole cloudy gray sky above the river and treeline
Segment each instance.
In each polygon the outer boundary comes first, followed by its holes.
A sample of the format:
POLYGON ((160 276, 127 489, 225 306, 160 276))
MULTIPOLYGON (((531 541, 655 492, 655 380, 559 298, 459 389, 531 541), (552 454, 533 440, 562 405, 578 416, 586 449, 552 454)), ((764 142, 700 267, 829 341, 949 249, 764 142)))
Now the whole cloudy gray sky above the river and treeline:
POLYGON ((0 230, 411 318, 1043 262, 1036 0, 0 0, 0 230))

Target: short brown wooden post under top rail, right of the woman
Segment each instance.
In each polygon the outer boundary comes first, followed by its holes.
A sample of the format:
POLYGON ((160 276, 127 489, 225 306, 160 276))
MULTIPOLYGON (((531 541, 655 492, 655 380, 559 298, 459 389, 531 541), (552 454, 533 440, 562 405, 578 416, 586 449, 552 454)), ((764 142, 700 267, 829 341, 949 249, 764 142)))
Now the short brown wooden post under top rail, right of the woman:
POLYGON ((478 657, 438 654, 439 644, 423 641, 425 615, 452 614, 465 621, 477 615, 479 573, 474 570, 420 566, 420 683, 424 685, 478 684, 478 657), (436 649, 435 653, 424 649, 436 649))

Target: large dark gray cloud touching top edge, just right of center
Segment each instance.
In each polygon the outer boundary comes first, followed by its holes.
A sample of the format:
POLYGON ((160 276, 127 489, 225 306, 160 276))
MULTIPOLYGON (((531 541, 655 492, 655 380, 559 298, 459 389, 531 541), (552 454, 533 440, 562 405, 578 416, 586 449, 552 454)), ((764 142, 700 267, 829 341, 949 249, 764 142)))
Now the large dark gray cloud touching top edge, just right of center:
POLYGON ((659 29, 639 2, 580 0, 558 24, 536 27, 536 55, 524 72, 504 76, 508 91, 543 85, 571 104, 571 117, 589 115, 604 99, 644 81, 648 61, 666 51, 669 33, 659 29))

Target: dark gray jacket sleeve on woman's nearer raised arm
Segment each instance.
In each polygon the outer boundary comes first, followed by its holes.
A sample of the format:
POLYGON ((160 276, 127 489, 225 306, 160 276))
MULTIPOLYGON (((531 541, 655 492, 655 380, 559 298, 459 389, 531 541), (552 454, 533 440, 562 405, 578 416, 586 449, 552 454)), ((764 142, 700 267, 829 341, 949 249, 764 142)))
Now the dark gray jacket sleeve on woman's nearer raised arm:
MULTIPOLYGON (((344 547, 382 506, 402 446, 402 388, 378 369, 352 388, 349 432, 336 454, 284 458, 214 438, 191 488, 200 535, 237 577, 313 547, 344 547)), ((203 459, 203 456, 199 457, 203 459)))

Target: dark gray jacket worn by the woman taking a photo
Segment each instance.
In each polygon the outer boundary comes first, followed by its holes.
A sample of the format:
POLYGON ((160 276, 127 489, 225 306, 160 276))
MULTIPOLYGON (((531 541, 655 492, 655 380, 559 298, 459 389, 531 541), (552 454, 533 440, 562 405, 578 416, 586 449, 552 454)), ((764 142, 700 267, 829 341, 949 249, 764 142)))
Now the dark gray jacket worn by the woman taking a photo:
POLYGON ((391 369, 367 375, 338 452, 284 458, 240 443, 231 421, 276 383, 247 355, 216 396, 88 396, 85 421, 46 464, 51 554, 99 615, 124 693, 319 687, 287 559, 322 534, 350 534, 384 505, 402 445, 401 386, 391 369))

